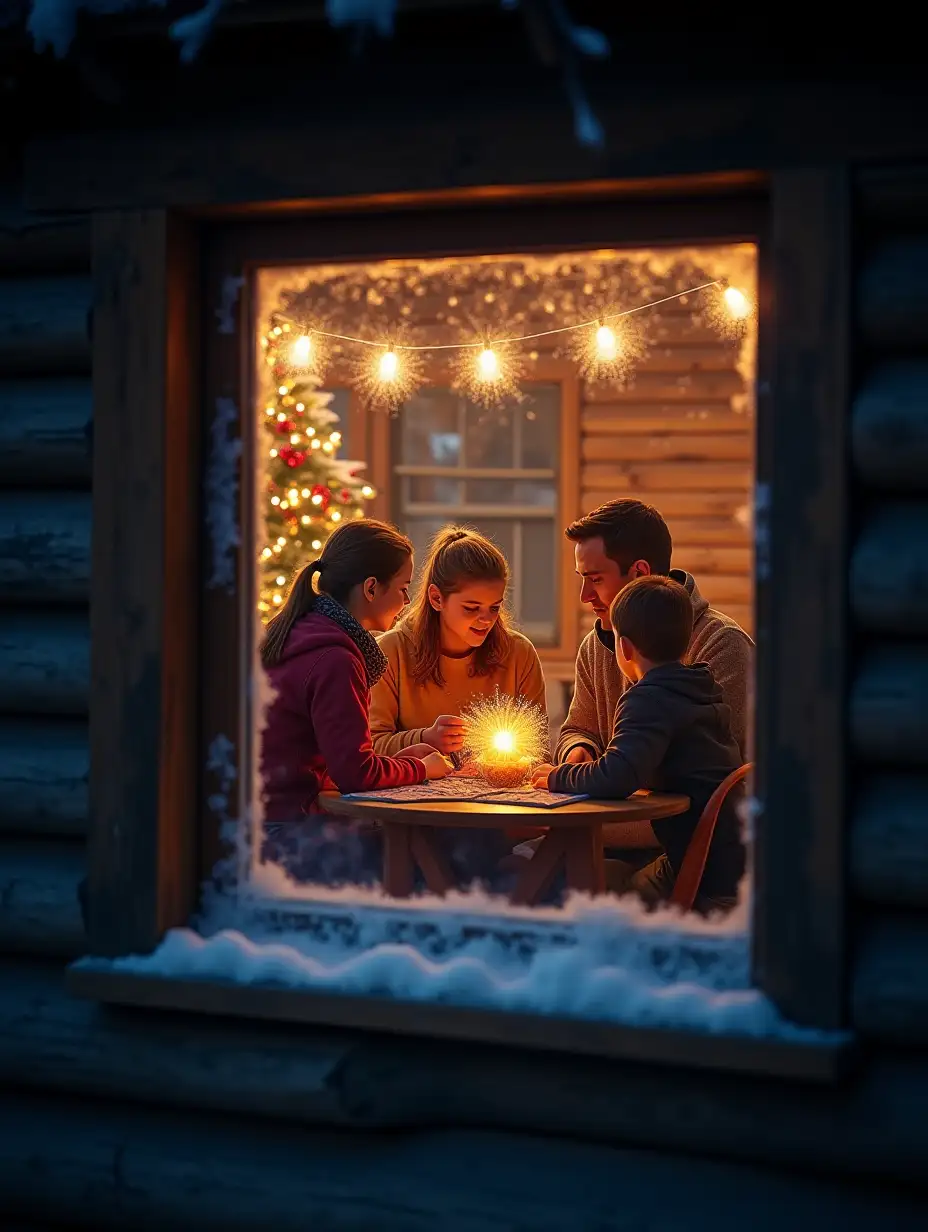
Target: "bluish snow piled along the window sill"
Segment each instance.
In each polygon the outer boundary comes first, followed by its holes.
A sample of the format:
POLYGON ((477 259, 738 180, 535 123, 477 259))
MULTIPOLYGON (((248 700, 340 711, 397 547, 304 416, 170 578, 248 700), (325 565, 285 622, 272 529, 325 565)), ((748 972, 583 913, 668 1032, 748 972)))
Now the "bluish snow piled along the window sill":
MULTIPOLYGON (((174 929, 148 956, 85 958, 81 966, 636 1026, 823 1039, 785 1021, 749 987, 746 907, 711 923, 670 909, 646 914, 627 899, 574 896, 556 913, 557 923, 532 924, 532 913, 509 908, 503 917, 498 902, 477 894, 421 898, 402 910, 380 902, 378 909, 343 898, 348 929, 333 924, 339 915, 333 896, 330 926, 296 931, 255 919, 248 935, 228 926, 174 929)), ((320 919, 325 914, 320 904, 320 919)))

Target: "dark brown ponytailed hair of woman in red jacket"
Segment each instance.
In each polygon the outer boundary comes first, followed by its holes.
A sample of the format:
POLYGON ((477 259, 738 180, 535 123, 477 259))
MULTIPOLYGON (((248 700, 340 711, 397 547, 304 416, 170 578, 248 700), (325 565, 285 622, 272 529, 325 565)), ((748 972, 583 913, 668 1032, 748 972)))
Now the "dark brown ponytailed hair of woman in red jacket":
POLYGON ((412 554, 413 545, 388 522, 378 522, 373 517, 343 522, 328 537, 319 559, 299 570, 287 601, 267 621, 260 647, 264 667, 272 668, 280 663, 293 625, 315 606, 314 574, 319 574, 319 593, 344 605, 365 578, 389 582, 412 554))

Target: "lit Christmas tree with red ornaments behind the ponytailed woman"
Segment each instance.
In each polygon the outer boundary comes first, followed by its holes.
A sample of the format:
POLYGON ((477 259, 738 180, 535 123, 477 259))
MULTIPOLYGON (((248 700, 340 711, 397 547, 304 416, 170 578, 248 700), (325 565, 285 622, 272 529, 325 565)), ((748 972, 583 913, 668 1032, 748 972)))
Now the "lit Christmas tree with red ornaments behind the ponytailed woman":
POLYGON ((332 394, 306 362, 308 339, 290 324, 274 324, 261 339, 267 393, 260 435, 265 469, 264 543, 259 548, 258 611, 270 618, 293 575, 314 561, 346 517, 364 517, 375 495, 362 462, 338 458, 341 434, 329 409, 332 394), (301 362, 302 361, 302 362, 301 362))

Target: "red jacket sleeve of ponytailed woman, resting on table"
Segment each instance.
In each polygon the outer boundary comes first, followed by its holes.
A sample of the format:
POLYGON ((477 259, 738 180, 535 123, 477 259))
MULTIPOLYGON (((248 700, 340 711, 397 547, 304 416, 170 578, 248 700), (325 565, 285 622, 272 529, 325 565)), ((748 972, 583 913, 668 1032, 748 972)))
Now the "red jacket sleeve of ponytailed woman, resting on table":
POLYGON ((319 658, 307 681, 307 703, 327 774, 343 796, 424 781, 418 758, 373 752, 367 673, 349 649, 332 647, 319 658))

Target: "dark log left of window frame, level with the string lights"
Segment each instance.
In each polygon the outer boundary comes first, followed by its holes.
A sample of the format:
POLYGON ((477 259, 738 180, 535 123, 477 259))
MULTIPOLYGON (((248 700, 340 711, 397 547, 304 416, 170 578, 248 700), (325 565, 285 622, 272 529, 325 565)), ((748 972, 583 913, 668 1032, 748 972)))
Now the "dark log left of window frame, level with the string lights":
POLYGON ((89 277, 0 278, 0 373, 90 371, 89 277))

